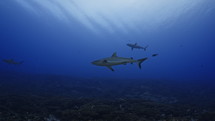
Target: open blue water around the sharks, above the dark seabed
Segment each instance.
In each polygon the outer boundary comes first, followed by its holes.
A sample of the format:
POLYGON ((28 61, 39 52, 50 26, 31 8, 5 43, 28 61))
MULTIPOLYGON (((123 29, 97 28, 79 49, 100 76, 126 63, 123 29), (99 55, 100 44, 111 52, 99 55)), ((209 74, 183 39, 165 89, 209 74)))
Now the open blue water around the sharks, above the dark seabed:
POLYGON ((0 1, 0 59, 23 61, 1 61, 1 75, 182 80, 208 87, 215 80, 214 46, 214 0, 0 1), (148 48, 131 50, 128 43, 148 48), (113 66, 114 72, 91 63, 114 52, 148 60, 142 69, 133 63, 113 66))

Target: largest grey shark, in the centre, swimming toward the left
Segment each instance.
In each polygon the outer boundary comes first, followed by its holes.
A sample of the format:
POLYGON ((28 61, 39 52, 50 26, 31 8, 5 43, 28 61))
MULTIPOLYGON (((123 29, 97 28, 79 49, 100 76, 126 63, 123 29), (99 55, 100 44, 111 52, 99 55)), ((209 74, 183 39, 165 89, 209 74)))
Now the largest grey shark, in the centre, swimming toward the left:
POLYGON ((141 63, 145 60, 147 60, 147 58, 134 60, 133 58, 118 57, 115 52, 115 53, 113 53, 113 55, 111 57, 93 61, 92 64, 97 65, 97 66, 105 66, 105 67, 109 68, 111 71, 114 71, 112 66, 122 65, 122 64, 125 65, 127 63, 137 63, 139 68, 141 69, 141 63))

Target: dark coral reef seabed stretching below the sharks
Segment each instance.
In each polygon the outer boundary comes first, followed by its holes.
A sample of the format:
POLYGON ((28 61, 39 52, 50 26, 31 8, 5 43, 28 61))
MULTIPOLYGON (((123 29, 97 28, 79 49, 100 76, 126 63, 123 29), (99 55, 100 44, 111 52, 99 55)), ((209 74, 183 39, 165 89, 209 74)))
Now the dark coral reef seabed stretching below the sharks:
POLYGON ((0 121, 215 120, 212 84, 11 73, 0 79, 0 121))

